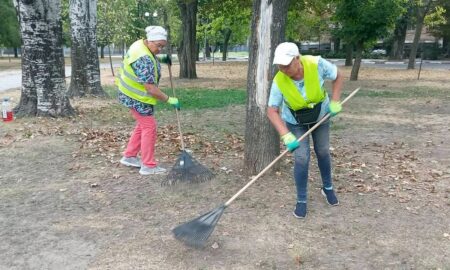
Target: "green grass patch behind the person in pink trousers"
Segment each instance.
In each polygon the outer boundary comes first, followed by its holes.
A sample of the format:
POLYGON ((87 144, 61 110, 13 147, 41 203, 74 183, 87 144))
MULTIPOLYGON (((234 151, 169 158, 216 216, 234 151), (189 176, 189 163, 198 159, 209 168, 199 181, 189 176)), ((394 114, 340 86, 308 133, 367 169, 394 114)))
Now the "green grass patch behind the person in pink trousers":
MULTIPOLYGON (((111 98, 117 97, 116 87, 104 86, 104 89, 111 98)), ((163 91, 170 93, 168 89, 163 91)), ((246 102, 246 91, 243 89, 176 89, 176 93, 183 110, 222 108, 246 102)), ((167 103, 158 103, 158 110, 171 109, 167 103)))

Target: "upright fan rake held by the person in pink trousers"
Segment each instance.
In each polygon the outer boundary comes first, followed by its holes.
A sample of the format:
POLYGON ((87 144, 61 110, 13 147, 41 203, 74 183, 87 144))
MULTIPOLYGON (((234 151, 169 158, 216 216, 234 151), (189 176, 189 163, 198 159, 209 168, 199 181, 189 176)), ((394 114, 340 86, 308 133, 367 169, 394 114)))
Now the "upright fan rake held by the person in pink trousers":
MULTIPOLYGON (((173 95, 175 95, 175 88, 172 81, 172 69, 169 67, 170 87, 172 88, 173 95)), ((205 166, 195 160, 185 149, 183 133, 181 132, 181 123, 178 109, 175 110, 177 115, 178 132, 180 133, 181 141, 181 154, 178 157, 172 170, 167 175, 166 180, 162 185, 174 185, 176 183, 199 183, 205 182, 213 178, 214 174, 205 166)))

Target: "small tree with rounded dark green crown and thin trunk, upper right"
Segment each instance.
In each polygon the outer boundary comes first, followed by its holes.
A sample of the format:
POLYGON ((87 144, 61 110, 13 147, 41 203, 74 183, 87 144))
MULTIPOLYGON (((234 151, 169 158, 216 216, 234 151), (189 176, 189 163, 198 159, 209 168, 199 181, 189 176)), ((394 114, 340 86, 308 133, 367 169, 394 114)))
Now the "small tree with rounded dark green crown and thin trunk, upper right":
POLYGON ((364 48, 385 37, 404 12, 404 0, 340 0, 335 19, 340 27, 338 35, 354 46, 355 62, 350 80, 358 79, 364 48))

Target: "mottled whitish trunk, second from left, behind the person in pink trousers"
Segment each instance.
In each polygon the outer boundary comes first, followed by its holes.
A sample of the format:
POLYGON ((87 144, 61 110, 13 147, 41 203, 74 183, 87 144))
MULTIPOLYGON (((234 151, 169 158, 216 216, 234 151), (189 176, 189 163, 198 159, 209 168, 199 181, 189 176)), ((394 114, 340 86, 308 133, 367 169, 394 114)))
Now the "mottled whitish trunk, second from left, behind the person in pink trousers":
POLYGON ((72 76, 69 97, 105 96, 97 52, 97 0, 70 0, 72 76))

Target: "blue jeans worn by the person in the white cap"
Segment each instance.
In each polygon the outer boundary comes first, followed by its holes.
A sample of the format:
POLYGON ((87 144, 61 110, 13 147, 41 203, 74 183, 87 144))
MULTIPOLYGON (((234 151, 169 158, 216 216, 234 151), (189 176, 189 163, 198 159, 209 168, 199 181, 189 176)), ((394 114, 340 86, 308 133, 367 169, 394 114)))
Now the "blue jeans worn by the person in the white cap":
MULTIPOLYGON (((292 125, 286 123, 287 128, 297 137, 303 136, 311 125, 292 125)), ((312 133, 314 152, 322 177, 323 187, 331 188, 331 155, 330 155, 330 121, 318 126, 312 133)), ((306 202, 308 195, 308 169, 309 169, 309 137, 300 141, 300 147, 294 151, 294 179, 297 187, 297 201, 306 202)))

